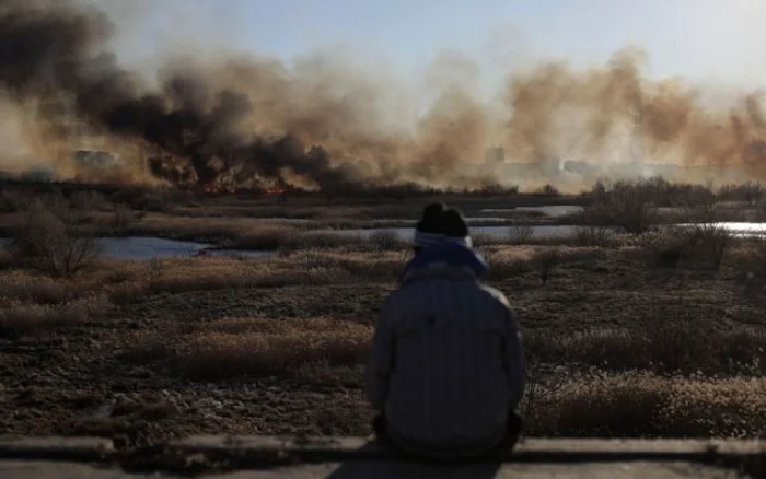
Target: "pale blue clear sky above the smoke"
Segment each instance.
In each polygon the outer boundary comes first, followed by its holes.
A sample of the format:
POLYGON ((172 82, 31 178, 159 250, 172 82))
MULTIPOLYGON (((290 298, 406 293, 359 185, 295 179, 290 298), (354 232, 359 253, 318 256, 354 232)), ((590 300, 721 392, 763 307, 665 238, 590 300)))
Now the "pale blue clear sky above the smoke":
POLYGON ((626 45, 651 77, 766 85, 763 0, 82 0, 114 16, 117 51, 140 62, 170 48, 227 48, 286 62, 347 51, 417 78, 444 51, 483 81, 546 59, 605 63, 626 45))

